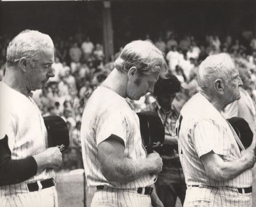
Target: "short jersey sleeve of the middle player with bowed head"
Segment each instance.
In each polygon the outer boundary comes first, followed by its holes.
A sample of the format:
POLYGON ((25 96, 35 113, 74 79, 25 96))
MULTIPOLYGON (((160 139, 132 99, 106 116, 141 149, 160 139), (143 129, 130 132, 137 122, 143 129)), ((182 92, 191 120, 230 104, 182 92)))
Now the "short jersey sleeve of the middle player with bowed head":
POLYGON ((96 128, 96 144, 97 146, 106 140, 111 134, 121 137, 124 140, 124 145, 127 141, 127 132, 129 125, 127 119, 120 108, 110 106, 97 118, 96 128))

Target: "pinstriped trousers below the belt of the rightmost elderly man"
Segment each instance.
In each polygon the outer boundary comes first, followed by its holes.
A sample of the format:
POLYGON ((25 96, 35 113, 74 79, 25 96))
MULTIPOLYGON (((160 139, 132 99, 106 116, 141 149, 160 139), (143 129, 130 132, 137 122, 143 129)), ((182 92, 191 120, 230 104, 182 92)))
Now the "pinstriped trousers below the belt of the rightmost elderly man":
POLYGON ((194 201, 194 204, 210 201, 209 205, 200 207, 251 207, 252 193, 239 193, 236 188, 221 186, 188 186, 183 207, 192 207, 193 205, 188 204, 191 201, 194 201))

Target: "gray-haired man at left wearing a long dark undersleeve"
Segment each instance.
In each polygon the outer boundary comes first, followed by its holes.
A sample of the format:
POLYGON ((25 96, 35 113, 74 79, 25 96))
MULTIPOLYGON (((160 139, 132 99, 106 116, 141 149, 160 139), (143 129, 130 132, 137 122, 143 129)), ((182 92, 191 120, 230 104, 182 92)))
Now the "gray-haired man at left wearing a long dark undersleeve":
POLYGON ((58 147, 48 148, 47 129, 32 90, 54 76, 49 35, 24 30, 7 47, 0 82, 0 206, 56 207, 53 168, 62 163, 58 147))

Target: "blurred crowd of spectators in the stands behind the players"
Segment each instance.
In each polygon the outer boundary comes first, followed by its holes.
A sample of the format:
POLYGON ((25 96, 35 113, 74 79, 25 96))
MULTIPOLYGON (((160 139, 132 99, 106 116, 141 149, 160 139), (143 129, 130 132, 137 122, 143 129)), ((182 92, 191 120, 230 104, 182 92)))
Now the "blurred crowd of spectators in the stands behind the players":
MULTIPOLYGON (((231 55, 237 67, 242 67, 250 73, 250 96, 256 101, 256 38, 252 34, 244 34, 243 38, 233 38, 227 35, 206 35, 204 41, 198 41, 191 35, 180 38, 173 31, 167 31, 152 39, 156 47, 164 52, 169 66, 169 73, 177 76, 182 89, 177 94, 173 104, 179 110, 185 102, 198 92, 196 73, 200 61, 208 55, 227 52, 231 55), (243 44, 242 44, 242 43, 243 44)), ((55 77, 41 89, 31 93, 43 116, 61 116, 70 131, 70 146, 63 153, 61 169, 82 168, 80 144, 80 127, 82 112, 93 90, 103 82, 114 68, 115 58, 120 49, 106 60, 103 46, 92 42, 89 37, 80 33, 63 39, 54 38, 55 45, 55 77)), ((147 35, 150 39, 150 35, 147 35)), ((0 38, 0 80, 4 75, 6 48, 10 39, 0 38)), ((133 101, 135 111, 140 111, 154 101, 151 94, 146 94, 138 101, 133 101)))

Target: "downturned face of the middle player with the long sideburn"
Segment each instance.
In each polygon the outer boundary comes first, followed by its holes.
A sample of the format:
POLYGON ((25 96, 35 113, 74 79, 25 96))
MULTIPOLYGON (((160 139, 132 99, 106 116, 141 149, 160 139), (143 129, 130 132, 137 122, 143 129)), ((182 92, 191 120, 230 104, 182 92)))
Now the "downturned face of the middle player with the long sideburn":
POLYGON ((159 78, 159 72, 153 72, 148 75, 140 76, 138 72, 134 74, 133 79, 127 83, 126 96, 131 100, 139 100, 147 92, 153 93, 154 85, 159 78))

